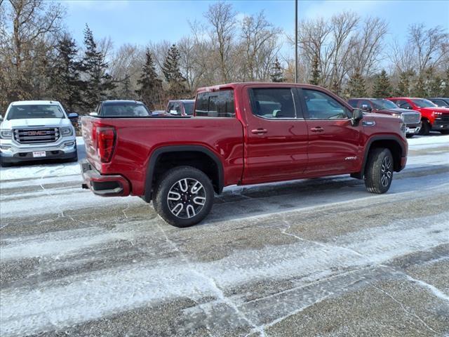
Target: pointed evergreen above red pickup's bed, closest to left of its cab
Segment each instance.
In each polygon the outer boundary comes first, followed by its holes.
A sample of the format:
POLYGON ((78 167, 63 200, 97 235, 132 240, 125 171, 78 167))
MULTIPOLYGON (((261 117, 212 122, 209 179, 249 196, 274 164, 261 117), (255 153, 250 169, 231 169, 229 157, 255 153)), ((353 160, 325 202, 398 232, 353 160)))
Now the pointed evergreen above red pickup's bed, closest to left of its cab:
POLYGON ((162 72, 168 84, 169 98, 183 98, 187 94, 186 79, 181 74, 180 52, 174 44, 168 49, 166 60, 163 62, 162 72))

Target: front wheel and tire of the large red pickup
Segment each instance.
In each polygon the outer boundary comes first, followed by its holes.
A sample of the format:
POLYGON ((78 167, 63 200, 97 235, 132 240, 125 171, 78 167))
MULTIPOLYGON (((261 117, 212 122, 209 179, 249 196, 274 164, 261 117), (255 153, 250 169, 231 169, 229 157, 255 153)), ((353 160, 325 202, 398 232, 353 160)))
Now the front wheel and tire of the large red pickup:
POLYGON ((389 190, 393 180, 394 162, 390 150, 379 147, 370 151, 365 169, 368 192, 382 194, 389 190))

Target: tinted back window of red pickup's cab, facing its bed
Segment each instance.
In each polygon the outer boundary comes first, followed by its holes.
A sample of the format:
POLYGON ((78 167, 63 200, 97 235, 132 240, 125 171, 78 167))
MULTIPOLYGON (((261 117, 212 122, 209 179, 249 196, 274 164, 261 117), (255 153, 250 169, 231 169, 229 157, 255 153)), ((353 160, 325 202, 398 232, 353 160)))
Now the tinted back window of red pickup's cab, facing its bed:
POLYGON ((236 117, 234 91, 199 93, 196 97, 195 114, 199 117, 236 117))

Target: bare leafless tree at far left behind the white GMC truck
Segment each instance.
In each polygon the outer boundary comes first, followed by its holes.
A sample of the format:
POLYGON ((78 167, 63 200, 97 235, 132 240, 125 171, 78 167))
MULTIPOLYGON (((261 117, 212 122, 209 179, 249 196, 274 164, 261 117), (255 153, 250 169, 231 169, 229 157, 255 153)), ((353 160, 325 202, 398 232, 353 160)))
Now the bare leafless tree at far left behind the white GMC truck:
POLYGON ((10 22, 0 28, 0 53, 5 65, 1 77, 9 84, 8 100, 39 96, 46 76, 42 68, 57 42, 55 35, 64 10, 60 4, 41 0, 1 1, 0 6, 1 15, 10 22))

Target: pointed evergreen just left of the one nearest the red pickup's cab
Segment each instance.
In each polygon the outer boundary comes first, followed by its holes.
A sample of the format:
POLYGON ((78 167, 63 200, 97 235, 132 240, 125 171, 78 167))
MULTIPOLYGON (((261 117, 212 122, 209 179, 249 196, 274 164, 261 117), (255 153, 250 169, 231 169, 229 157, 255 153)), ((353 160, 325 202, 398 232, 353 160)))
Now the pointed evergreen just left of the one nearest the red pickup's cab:
POLYGON ((135 92, 149 110, 155 110, 156 106, 161 103, 162 81, 157 77, 156 67, 149 49, 147 49, 145 55, 146 61, 142 67, 142 74, 137 81, 138 89, 135 92))

